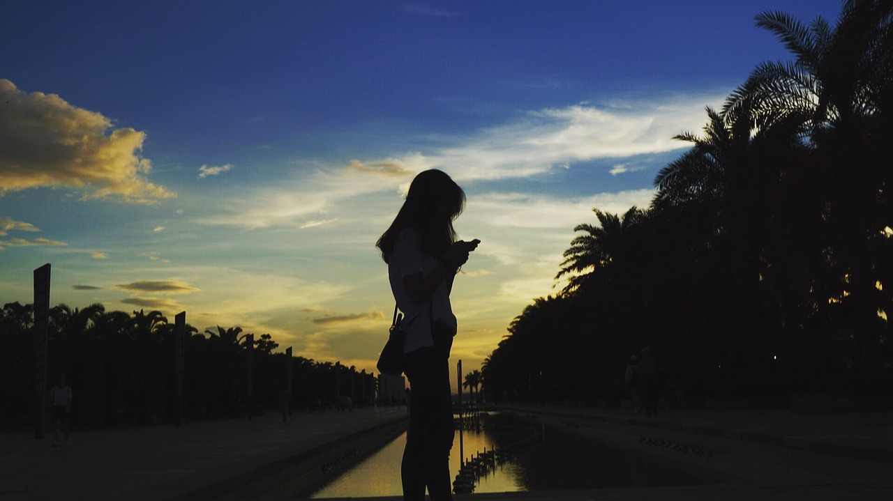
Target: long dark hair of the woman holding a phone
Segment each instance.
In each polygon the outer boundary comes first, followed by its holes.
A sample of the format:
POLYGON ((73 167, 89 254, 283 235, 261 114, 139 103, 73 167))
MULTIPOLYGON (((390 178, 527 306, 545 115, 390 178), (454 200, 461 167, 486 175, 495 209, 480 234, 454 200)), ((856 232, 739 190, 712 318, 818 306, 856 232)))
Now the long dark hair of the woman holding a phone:
POLYGON ((453 221, 465 209, 465 192, 447 173, 432 168, 420 172, 409 185, 409 193, 394 222, 375 246, 387 263, 400 231, 413 228, 419 234, 421 253, 440 256, 455 242, 453 221))

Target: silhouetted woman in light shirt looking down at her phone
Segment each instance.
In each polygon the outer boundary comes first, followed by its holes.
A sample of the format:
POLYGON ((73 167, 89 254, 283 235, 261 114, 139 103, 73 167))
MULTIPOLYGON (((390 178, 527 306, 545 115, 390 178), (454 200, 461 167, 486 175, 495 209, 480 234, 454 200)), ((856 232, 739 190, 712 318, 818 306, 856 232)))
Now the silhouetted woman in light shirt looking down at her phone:
POLYGON ((405 374, 413 397, 401 475, 405 501, 452 499, 449 451, 453 447, 453 397, 449 351, 456 333, 449 294, 456 270, 478 242, 456 241, 453 220, 465 193, 440 170, 421 172, 377 247, 404 313, 405 374))

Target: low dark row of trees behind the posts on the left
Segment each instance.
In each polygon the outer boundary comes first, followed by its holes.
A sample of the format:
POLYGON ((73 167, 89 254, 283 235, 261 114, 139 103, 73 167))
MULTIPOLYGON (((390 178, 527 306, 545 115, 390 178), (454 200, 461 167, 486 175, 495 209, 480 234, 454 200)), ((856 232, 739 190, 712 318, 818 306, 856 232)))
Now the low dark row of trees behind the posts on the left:
MULTIPOLYGON (((171 319, 172 320, 172 319, 171 319)), ((33 306, 0 310, 0 423, 27 425, 34 402, 33 306)), ((64 374, 72 422, 89 426, 172 423, 176 419, 175 325, 159 311, 105 311, 101 304, 50 309, 46 390, 64 374)), ((184 420, 246 416, 248 337, 240 327, 198 333, 186 325, 184 420)), ((254 339, 252 412, 276 409, 288 387, 285 353, 270 334, 254 339)), ((292 408, 339 407, 374 398, 373 374, 354 366, 292 358, 292 408)))

